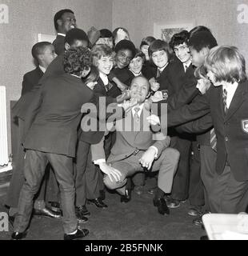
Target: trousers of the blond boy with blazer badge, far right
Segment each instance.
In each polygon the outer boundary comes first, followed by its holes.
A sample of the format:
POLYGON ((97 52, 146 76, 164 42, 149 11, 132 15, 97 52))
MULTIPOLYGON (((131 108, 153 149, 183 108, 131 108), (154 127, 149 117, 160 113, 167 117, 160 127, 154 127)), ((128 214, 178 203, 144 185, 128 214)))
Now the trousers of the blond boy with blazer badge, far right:
POLYGON ((248 205, 248 181, 236 181, 230 166, 225 166, 222 174, 214 174, 209 202, 212 213, 245 212, 248 205))

